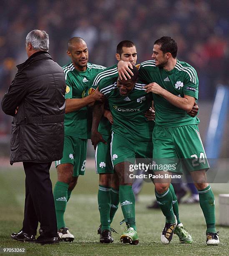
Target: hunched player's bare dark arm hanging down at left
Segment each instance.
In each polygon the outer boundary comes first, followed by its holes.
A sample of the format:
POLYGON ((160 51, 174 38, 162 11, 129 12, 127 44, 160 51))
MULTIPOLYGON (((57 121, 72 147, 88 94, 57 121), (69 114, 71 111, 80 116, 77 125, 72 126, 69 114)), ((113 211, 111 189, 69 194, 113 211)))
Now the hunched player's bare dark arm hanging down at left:
POLYGON ((103 139, 101 133, 98 132, 98 125, 102 118, 104 110, 104 102, 96 101, 93 107, 93 119, 92 119, 92 128, 91 128, 91 143, 96 150, 97 144, 102 141, 106 144, 106 141, 103 139))

